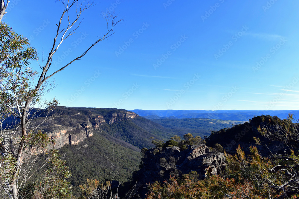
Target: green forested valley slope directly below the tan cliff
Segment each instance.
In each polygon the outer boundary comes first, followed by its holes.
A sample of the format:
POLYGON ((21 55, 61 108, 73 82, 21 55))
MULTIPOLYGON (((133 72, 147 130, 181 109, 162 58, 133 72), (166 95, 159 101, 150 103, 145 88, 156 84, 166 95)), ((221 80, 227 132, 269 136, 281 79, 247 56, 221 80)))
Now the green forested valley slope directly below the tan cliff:
POLYGON ((119 182, 128 181, 132 173, 138 170, 140 149, 129 149, 115 142, 115 138, 109 141, 109 136, 105 136, 105 133, 95 132, 80 144, 64 146, 59 150, 61 158, 67 162, 72 173, 68 181, 74 187, 74 195, 81 195, 79 185, 86 183, 86 179, 105 182, 110 174, 110 161, 113 162, 113 172, 120 170, 117 176, 119 182))

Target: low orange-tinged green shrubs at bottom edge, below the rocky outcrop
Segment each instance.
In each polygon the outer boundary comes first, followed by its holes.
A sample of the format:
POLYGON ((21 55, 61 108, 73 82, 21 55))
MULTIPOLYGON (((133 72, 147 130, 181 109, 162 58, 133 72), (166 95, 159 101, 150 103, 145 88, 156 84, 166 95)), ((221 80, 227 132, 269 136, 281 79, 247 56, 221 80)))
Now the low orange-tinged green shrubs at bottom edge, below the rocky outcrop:
MULTIPOLYGON (((194 175, 194 174, 193 174, 194 175)), ((163 184, 155 182, 149 185, 150 192, 146 199, 176 199, 176 198, 252 198, 258 199, 251 189, 250 184, 238 184, 234 179, 212 176, 204 181, 185 179, 177 181, 174 177, 163 184)))

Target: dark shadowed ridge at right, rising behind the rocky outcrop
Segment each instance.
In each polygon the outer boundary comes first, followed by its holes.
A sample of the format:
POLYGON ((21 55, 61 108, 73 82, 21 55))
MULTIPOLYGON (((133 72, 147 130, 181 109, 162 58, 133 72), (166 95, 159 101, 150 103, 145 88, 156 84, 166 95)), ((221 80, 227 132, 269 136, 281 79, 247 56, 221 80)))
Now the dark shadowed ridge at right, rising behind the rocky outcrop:
POLYGON ((244 124, 212 132, 206 141, 209 146, 220 144, 226 152, 231 154, 236 153, 238 145, 242 146, 242 150, 246 155, 250 154, 250 147, 257 147, 259 153, 264 157, 269 157, 272 153, 282 154, 285 147, 283 143, 270 141, 258 131, 259 127, 268 128, 271 132, 283 131, 283 127, 279 122, 282 121, 276 116, 257 116, 244 124), (254 137, 260 139, 261 144, 256 144, 254 137))

